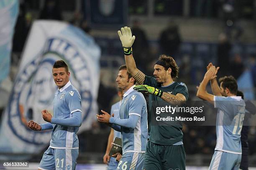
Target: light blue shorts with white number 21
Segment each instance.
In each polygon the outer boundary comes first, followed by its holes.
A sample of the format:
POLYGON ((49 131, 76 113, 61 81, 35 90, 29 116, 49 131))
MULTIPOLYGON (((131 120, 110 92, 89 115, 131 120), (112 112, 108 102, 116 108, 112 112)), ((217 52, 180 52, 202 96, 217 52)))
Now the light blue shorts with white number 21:
POLYGON ((75 170, 78 149, 53 149, 49 147, 41 159, 40 170, 75 170))

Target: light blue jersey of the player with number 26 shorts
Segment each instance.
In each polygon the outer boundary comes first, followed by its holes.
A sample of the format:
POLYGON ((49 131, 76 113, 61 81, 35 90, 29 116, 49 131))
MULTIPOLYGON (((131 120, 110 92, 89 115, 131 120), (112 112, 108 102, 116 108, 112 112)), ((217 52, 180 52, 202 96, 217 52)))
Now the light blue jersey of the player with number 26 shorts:
POLYGON ((133 86, 123 94, 120 107, 120 119, 128 119, 129 115, 139 117, 135 129, 121 127, 123 155, 126 152, 146 152, 148 141, 148 115, 146 100, 140 92, 133 90, 133 86))

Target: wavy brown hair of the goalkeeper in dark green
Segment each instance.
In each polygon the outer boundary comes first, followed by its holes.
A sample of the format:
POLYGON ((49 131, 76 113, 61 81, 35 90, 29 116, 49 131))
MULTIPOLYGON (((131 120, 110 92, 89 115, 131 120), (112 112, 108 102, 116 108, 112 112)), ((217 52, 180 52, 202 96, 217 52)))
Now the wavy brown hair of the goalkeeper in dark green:
POLYGON ((172 69, 171 76, 172 78, 177 78, 179 74, 179 67, 175 60, 171 56, 167 56, 162 54, 159 56, 159 61, 164 62, 164 69, 168 70, 169 68, 172 69))

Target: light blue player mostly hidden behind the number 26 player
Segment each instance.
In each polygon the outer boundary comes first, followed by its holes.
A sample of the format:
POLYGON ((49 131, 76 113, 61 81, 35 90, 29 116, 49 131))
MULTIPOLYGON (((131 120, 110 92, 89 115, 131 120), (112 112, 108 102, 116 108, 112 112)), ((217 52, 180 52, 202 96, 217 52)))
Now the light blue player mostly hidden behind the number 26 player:
MULTIPOLYGON (((111 106, 110 113, 114 114, 115 118, 120 119, 119 111, 120 111, 121 101, 123 99, 123 90, 122 89, 118 88, 118 96, 120 97, 120 101, 116 102, 115 104, 113 104, 111 106)), ((119 162, 119 160, 120 160, 120 158, 122 156, 121 153, 120 154, 116 154, 117 155, 116 158, 110 157, 108 155, 108 153, 110 152, 111 146, 112 146, 111 143, 113 143, 113 141, 115 140, 115 137, 121 138, 121 133, 111 128, 110 134, 108 136, 107 149, 106 149, 105 155, 103 157, 103 162, 105 164, 108 164, 107 170, 116 170, 116 168, 118 166, 118 162, 119 162)))

